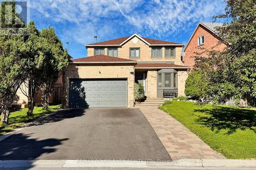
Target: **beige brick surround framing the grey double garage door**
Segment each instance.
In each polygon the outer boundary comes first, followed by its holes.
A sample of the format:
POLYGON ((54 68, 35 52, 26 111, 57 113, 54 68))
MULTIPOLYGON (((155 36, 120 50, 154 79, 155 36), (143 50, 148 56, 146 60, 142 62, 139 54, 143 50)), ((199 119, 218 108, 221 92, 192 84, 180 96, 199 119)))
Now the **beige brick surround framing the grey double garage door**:
POLYGON ((63 74, 63 107, 69 107, 69 79, 127 79, 127 106, 134 107, 134 65, 84 65, 70 64, 63 74))

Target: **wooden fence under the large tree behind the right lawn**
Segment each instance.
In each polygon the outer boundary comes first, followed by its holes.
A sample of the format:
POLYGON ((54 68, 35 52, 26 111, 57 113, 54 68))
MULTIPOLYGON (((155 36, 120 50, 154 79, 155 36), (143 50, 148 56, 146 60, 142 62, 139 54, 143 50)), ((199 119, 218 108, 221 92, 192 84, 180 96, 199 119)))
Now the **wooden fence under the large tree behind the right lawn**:
MULTIPOLYGON (((226 106, 236 106, 236 100, 229 99, 226 103, 223 103, 226 106)), ((240 100, 239 107, 256 107, 256 98, 246 94, 243 99, 240 100)))

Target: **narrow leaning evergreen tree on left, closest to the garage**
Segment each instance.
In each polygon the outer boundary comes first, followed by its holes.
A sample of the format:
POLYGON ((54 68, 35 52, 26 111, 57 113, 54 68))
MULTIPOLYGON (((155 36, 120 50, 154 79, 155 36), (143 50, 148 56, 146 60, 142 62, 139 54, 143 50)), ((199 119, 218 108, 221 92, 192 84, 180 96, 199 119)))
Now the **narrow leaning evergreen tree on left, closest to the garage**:
POLYGON ((50 52, 46 55, 47 62, 46 67, 42 71, 44 76, 44 83, 42 85, 42 106, 48 110, 49 98, 53 91, 54 83, 62 71, 68 66, 68 53, 63 50, 60 39, 55 34, 53 28, 43 29, 40 34, 41 37, 45 38, 50 52))

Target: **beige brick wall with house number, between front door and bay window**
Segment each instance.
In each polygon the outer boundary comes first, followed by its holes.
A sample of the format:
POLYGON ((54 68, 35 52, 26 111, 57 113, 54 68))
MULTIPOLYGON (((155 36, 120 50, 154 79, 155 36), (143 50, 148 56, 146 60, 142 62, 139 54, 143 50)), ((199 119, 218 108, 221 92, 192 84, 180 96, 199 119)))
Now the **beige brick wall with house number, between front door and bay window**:
POLYGON ((157 70, 148 70, 146 78, 147 98, 157 98, 157 70))

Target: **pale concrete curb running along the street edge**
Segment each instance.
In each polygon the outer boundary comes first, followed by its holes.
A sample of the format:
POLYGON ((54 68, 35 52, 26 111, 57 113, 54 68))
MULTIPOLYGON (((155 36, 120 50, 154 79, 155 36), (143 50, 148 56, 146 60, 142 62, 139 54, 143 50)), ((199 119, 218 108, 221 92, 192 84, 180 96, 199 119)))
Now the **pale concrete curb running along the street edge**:
POLYGON ((130 167, 130 168, 256 168, 256 160, 180 159, 177 161, 134 160, 2 160, 0 167, 130 167))

